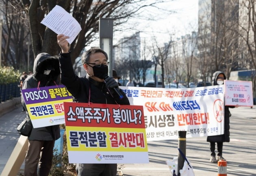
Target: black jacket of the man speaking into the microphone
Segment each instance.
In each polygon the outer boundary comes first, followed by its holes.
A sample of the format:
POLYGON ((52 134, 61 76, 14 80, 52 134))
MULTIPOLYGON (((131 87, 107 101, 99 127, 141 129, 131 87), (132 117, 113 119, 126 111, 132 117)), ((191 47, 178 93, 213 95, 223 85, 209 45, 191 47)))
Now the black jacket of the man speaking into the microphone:
POLYGON ((104 82, 96 82, 91 78, 78 77, 74 73, 70 53, 60 54, 59 62, 61 67, 61 83, 72 94, 74 102, 88 103, 90 97, 91 103, 130 105, 126 94, 121 89, 120 92, 124 98, 120 100, 115 92, 111 92, 113 97, 111 96, 104 82))

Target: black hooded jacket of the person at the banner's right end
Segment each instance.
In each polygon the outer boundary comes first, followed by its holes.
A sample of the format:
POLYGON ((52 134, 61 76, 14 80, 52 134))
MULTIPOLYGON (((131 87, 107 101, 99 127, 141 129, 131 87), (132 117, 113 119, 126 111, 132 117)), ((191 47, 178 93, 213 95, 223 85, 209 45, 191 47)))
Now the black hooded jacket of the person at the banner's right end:
MULTIPOLYGON (((217 77, 219 74, 224 75, 224 79, 226 76, 221 71, 216 71, 213 73, 213 85, 217 85, 217 77)), ((234 108, 234 106, 224 106, 224 134, 223 135, 215 135, 215 136, 207 136, 207 142, 229 142, 230 141, 230 125, 229 125, 229 117, 231 116, 229 107, 234 108)))

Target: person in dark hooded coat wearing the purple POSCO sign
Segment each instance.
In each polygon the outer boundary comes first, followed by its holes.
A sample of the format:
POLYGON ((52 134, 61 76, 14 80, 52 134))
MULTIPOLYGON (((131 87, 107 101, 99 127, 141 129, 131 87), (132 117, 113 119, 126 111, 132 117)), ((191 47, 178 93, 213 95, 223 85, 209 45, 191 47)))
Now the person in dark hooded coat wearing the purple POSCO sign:
MULTIPOLYGON (((23 83, 22 89, 54 86, 60 75, 59 60, 47 53, 40 53, 34 61, 33 75, 23 83)), ((22 96, 22 105, 26 109, 22 96)), ((48 176, 52 167, 53 147, 55 140, 60 137, 59 125, 33 128, 28 136, 28 151, 25 158, 24 176, 48 176), (41 157, 40 157, 41 154, 41 157)))

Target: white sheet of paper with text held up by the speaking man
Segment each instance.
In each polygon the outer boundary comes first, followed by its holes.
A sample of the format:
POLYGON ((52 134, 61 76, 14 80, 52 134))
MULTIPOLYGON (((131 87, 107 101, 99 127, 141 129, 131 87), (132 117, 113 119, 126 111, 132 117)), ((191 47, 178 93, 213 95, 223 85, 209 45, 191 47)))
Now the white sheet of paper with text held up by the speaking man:
POLYGON ((71 44, 79 32, 82 30, 80 24, 72 15, 70 15, 61 6, 56 5, 46 17, 43 18, 41 24, 50 28, 56 34, 64 34, 69 36, 67 41, 71 44))

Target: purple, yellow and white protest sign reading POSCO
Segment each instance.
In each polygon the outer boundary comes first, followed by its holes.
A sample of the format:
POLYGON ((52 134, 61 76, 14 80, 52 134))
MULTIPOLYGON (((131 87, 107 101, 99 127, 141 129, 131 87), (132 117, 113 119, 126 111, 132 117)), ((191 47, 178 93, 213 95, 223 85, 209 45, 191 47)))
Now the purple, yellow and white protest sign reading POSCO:
POLYGON ((72 95, 63 85, 22 90, 33 127, 65 123, 63 102, 72 102, 72 95))

